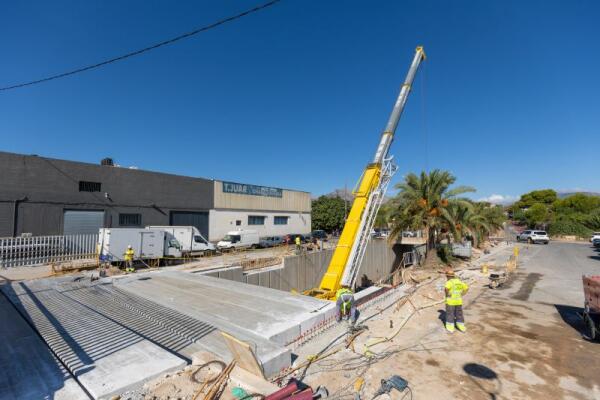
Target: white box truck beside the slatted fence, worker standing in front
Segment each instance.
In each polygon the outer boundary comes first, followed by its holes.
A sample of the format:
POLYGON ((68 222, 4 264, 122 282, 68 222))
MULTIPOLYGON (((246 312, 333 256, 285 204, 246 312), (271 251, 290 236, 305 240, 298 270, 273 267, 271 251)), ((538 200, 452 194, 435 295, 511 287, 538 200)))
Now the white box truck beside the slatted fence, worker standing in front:
POLYGON ((100 228, 98 252, 100 260, 125 260, 127 246, 134 251, 135 260, 181 257, 181 245, 175 237, 162 229, 100 228))

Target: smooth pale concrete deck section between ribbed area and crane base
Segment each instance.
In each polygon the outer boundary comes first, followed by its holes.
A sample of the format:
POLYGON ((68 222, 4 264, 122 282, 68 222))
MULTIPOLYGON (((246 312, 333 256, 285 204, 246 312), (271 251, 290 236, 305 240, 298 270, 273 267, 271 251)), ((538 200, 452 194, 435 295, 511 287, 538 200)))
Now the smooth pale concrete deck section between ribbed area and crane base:
MULTIPOLYGON (((114 285, 250 343, 267 376, 289 367, 291 352, 285 345, 333 308, 328 301, 177 271, 114 279, 114 285)), ((221 337, 200 343, 225 360, 230 357, 221 337)))

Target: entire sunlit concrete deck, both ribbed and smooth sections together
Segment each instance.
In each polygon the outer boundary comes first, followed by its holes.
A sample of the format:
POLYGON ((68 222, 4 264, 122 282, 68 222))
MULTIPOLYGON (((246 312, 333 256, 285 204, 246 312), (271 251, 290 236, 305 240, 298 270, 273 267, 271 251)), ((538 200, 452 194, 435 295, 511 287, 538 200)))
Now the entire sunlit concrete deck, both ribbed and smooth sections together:
POLYGON ((220 331, 250 343, 265 375, 275 375, 291 364, 286 345, 333 310, 327 301, 172 270, 2 290, 94 398, 179 369, 198 351, 231 360, 220 331))

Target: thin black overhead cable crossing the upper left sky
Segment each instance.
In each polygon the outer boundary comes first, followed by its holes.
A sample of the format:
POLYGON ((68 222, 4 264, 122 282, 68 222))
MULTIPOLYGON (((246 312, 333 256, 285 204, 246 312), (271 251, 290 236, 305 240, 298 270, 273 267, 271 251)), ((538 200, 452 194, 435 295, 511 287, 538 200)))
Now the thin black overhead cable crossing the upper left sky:
POLYGON ((272 5, 275 5, 276 3, 279 3, 280 1, 281 0, 271 0, 271 1, 267 2, 267 3, 258 5, 258 6, 254 7, 254 8, 251 8, 251 9, 246 10, 244 12, 241 12, 239 14, 236 14, 236 15, 233 15, 231 17, 227 17, 227 18, 221 19, 219 21, 213 22, 210 25, 206 25, 206 26, 194 29, 193 31, 184 33, 184 34, 179 35, 179 36, 175 36, 174 38, 164 40, 162 42, 153 44, 153 45, 148 46, 148 47, 144 47, 143 49, 135 50, 135 51, 132 51, 130 53, 126 53, 126 54, 120 55, 118 57, 114 57, 114 58, 111 58, 111 59, 108 59, 108 60, 105 60, 105 61, 101 61, 101 62, 99 62, 97 64, 88 65, 88 66, 85 66, 85 67, 81 67, 81 68, 77 68, 77 69, 74 69, 74 70, 71 70, 71 71, 63 72, 63 73, 60 73, 60 74, 57 74, 57 75, 51 75, 51 76, 48 76, 48 77, 45 77, 45 78, 42 78, 42 79, 37 79, 37 80, 34 80, 34 81, 30 81, 30 82, 23 82, 23 83, 19 83, 19 84, 12 85, 12 86, 2 87, 2 88, 0 88, 0 91, 6 91, 6 90, 11 90, 11 89, 18 89, 18 88, 22 88, 22 87, 25 87, 25 86, 31 86, 31 85, 36 85, 38 83, 52 81, 54 79, 64 78, 64 77, 67 77, 67 76, 70 76, 70 75, 78 74, 80 72, 85 72, 85 71, 89 71, 91 69, 100 68, 100 67, 103 67, 105 65, 115 63, 117 61, 125 60, 126 58, 138 56, 138 55, 140 55, 142 53, 146 53, 146 52, 148 52, 150 50, 154 50, 154 49, 157 49, 159 47, 175 43, 175 42, 177 42, 179 40, 182 40, 182 39, 187 39, 190 36, 194 36, 194 35, 197 35, 199 33, 206 32, 206 31, 208 31, 210 29, 213 29, 213 28, 216 28, 216 27, 218 27, 220 25, 226 24, 228 22, 235 21, 235 20, 240 19, 242 17, 245 17, 247 15, 253 14, 253 13, 257 12, 257 11, 264 10, 265 8, 270 7, 272 5))

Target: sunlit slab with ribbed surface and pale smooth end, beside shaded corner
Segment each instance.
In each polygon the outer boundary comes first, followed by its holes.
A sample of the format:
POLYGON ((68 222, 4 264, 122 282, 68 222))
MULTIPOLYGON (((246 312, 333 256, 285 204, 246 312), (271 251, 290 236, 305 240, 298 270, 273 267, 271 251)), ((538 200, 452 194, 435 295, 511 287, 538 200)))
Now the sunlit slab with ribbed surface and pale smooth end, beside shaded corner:
POLYGON ((94 398, 122 393, 186 364, 127 325, 69 296, 84 284, 59 283, 52 288, 51 280, 19 282, 2 289, 94 398))

